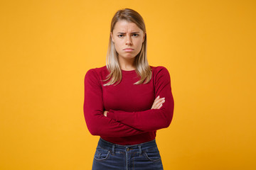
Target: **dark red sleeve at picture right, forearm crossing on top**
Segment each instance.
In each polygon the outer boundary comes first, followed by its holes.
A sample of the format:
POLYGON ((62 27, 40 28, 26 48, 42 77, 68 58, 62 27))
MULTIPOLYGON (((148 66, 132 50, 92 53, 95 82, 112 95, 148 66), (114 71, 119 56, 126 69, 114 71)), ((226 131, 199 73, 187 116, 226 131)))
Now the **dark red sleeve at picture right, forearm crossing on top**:
POLYGON ((137 112, 110 109, 107 117, 138 130, 153 131, 169 127, 174 114, 174 98, 171 93, 171 78, 168 70, 161 67, 154 79, 155 96, 165 98, 161 108, 137 112))

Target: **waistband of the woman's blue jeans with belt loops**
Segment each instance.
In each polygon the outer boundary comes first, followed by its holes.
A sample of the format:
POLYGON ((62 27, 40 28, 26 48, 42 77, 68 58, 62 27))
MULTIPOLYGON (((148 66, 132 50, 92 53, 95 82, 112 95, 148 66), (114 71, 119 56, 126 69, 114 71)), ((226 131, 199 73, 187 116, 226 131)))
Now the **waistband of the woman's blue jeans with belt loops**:
POLYGON ((138 145, 117 145, 112 142, 107 142, 100 137, 98 147, 107 149, 112 152, 112 154, 114 154, 114 152, 138 152, 139 154, 142 154, 142 152, 146 150, 157 148, 157 145, 156 140, 140 143, 138 145))

